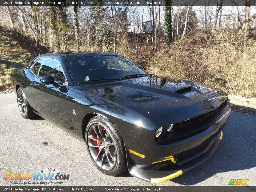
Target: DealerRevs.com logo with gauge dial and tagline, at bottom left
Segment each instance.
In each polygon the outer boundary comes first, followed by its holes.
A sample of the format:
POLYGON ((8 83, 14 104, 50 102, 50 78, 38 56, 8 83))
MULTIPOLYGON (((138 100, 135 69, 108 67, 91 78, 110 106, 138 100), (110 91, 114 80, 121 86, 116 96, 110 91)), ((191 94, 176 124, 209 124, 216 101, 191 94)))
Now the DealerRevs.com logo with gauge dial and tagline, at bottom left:
POLYGON ((10 173, 6 171, 3 174, 4 180, 10 180, 15 184, 62 184, 63 180, 69 180, 69 175, 62 174, 62 171, 56 167, 45 167, 34 173, 10 173))

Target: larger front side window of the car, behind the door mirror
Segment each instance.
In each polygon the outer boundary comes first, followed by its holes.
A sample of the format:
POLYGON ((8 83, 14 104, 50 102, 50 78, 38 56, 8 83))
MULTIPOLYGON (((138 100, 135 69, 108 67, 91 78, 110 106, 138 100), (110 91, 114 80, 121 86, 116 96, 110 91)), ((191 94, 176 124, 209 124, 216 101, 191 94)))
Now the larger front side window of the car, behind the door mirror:
POLYGON ((62 83, 66 82, 66 78, 62 71, 61 65, 57 61, 44 59, 39 69, 38 76, 44 77, 47 75, 53 76, 55 81, 62 82, 62 83))

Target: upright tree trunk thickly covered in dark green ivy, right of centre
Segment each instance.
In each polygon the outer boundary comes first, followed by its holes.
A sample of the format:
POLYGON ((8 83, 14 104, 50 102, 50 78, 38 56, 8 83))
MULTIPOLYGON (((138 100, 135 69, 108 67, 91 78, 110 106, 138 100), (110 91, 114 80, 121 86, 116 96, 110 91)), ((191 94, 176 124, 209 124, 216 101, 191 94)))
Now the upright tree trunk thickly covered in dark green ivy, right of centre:
POLYGON ((165 6, 165 36, 168 43, 171 43, 172 37, 172 7, 171 0, 166 0, 165 6))

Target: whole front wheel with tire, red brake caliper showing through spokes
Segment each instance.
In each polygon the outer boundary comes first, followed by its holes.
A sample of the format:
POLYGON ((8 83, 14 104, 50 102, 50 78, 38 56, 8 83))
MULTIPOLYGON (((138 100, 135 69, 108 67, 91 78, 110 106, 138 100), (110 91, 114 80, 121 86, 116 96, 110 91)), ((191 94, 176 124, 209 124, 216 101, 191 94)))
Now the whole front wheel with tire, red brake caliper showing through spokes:
POLYGON ((95 166, 104 174, 116 176, 127 170, 125 145, 116 126, 97 115, 86 126, 87 150, 95 166))

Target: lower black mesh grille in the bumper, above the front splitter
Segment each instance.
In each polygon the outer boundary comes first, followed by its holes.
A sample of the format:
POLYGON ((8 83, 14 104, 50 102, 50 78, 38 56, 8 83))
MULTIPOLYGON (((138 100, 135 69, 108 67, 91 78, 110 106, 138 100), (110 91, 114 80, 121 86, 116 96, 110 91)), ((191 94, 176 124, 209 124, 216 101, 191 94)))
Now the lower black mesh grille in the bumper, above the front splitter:
POLYGON ((177 159, 177 165, 181 165, 183 163, 186 163, 188 160, 192 160, 198 157, 198 154, 202 153, 204 150, 207 149, 207 147, 210 145, 210 142, 207 142, 199 147, 195 147, 195 149, 185 151, 180 155, 175 155, 174 157, 177 159))

